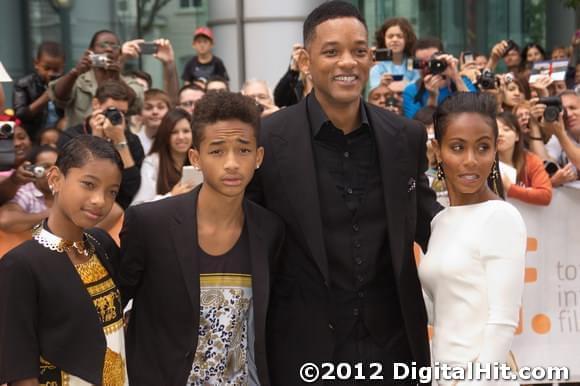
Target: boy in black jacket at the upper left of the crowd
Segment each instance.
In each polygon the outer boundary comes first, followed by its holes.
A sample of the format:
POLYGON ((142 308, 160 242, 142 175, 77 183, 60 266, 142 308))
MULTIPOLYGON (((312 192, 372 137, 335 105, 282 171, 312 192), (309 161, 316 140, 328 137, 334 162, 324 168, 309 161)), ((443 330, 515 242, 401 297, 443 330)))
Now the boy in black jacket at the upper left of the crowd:
POLYGON ((14 109, 22 121, 28 136, 38 139, 38 133, 46 127, 56 127, 64 116, 48 97, 48 83, 62 74, 64 51, 55 42, 43 42, 34 60, 34 72, 14 84, 14 109))

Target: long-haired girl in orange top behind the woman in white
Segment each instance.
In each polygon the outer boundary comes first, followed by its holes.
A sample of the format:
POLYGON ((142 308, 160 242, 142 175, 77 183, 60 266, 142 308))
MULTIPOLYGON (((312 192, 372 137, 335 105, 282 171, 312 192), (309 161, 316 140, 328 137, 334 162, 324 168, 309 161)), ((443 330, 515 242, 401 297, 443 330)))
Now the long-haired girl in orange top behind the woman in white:
POLYGON ((548 205, 552 201, 552 183, 544 163, 534 153, 524 148, 524 135, 517 118, 508 112, 497 116, 499 138, 497 152, 501 162, 516 169, 516 180, 502 175, 508 197, 535 205, 548 205))

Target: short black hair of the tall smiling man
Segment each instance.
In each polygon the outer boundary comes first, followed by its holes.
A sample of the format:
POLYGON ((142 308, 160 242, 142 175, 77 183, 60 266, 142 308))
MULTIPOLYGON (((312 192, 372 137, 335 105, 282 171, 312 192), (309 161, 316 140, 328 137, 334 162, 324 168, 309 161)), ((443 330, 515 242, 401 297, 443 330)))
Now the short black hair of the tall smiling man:
POLYGON ((319 24, 343 17, 354 17, 365 26, 365 30, 368 32, 367 23, 357 7, 344 1, 333 0, 319 5, 306 17, 302 28, 304 46, 307 47, 310 44, 319 24))

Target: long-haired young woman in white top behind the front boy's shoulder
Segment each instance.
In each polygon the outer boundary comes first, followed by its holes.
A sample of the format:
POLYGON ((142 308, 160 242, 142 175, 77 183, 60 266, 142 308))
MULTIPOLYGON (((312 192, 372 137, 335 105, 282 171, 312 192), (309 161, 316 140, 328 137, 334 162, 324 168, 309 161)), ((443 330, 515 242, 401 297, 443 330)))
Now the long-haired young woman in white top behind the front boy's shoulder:
POLYGON ((193 189, 179 183, 183 165, 189 164, 191 144, 191 115, 182 109, 171 110, 161 121, 151 152, 143 160, 141 186, 133 205, 193 189))

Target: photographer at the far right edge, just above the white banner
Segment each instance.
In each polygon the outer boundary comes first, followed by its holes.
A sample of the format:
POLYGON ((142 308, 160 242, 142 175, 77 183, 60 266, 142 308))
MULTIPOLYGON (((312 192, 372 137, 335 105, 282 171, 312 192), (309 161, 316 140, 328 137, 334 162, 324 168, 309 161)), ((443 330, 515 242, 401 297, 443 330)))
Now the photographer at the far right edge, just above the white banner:
POLYGON ((546 122, 545 131, 553 134, 546 144, 546 150, 561 167, 566 168, 568 163, 572 164, 575 180, 580 168, 580 97, 573 91, 566 91, 560 97, 566 120, 564 122, 564 113, 560 113, 558 120, 546 122))

